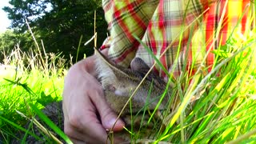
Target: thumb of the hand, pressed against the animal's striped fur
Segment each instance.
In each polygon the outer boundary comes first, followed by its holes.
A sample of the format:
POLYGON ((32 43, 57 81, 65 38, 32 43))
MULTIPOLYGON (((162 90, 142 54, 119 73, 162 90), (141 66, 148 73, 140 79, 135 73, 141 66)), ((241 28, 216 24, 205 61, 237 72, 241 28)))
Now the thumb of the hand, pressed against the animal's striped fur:
POLYGON ((94 94, 92 95, 94 95, 94 97, 92 97, 91 100, 96 104, 95 106, 98 110, 98 114, 100 115, 104 128, 110 130, 114 126, 114 131, 122 130, 123 126, 125 126, 125 123, 122 122, 121 119, 118 119, 118 121, 116 122, 117 115, 114 114, 113 110, 111 110, 106 100, 102 97, 102 91, 94 90, 93 92, 94 94))

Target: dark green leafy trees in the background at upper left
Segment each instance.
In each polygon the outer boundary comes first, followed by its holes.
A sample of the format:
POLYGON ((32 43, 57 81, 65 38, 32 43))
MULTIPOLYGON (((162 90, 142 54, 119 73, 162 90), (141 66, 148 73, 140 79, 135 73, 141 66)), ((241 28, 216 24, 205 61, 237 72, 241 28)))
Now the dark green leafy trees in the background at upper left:
MULTIPOLYGON (((97 10, 96 26, 98 43, 106 38, 106 22, 100 0, 10 0, 10 7, 4 7, 11 20, 11 27, 17 34, 28 33, 26 19, 37 39, 42 39, 46 52, 76 55, 78 42, 82 44, 94 35, 94 10, 97 10)), ((25 46, 30 47, 31 42, 25 46), (29 46, 27 46, 29 45, 29 46)), ((92 54, 91 43, 81 45, 79 58, 92 54)))

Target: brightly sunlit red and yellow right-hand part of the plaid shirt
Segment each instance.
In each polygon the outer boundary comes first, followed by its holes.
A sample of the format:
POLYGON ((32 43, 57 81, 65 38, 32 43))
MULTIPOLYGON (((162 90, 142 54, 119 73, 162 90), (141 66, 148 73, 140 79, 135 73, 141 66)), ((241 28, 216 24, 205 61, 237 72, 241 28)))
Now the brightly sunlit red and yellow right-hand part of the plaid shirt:
MULTIPOLYGON (((250 0, 220 0, 207 6, 209 10, 203 19, 206 51, 225 45, 232 33, 245 33, 250 0)), ((209 53, 206 59, 209 71, 213 63, 214 54, 209 53)))

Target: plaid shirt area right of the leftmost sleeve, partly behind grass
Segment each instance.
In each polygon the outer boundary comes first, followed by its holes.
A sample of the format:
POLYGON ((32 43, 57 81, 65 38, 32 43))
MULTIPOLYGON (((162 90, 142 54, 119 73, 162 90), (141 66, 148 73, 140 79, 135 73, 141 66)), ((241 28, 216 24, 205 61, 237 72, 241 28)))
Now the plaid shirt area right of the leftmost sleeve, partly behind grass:
MULTIPOLYGON (((199 66, 210 71, 214 63, 211 51, 224 45, 232 32, 245 32, 249 4, 250 0, 160 0, 142 42, 174 76, 178 76, 184 66, 192 75, 199 66), (160 58, 165 50, 166 54, 160 58)), ((142 45, 136 57, 149 66, 154 63, 154 58, 142 45)), ((166 76, 160 66, 155 66, 154 70, 166 76)))

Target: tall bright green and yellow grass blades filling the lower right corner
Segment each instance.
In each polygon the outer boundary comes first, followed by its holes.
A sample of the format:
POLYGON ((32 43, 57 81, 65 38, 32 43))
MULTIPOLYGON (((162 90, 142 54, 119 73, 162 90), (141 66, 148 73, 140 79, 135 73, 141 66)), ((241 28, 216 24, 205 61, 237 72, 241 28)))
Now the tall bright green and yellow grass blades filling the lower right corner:
POLYGON ((182 103, 174 110, 174 117, 168 119, 159 141, 224 143, 254 130, 254 47, 255 44, 246 52, 235 51, 228 58, 220 58, 212 74, 195 75, 191 83, 194 86, 188 87, 185 94, 177 90, 182 103), (193 97, 197 100, 191 103, 193 97))

